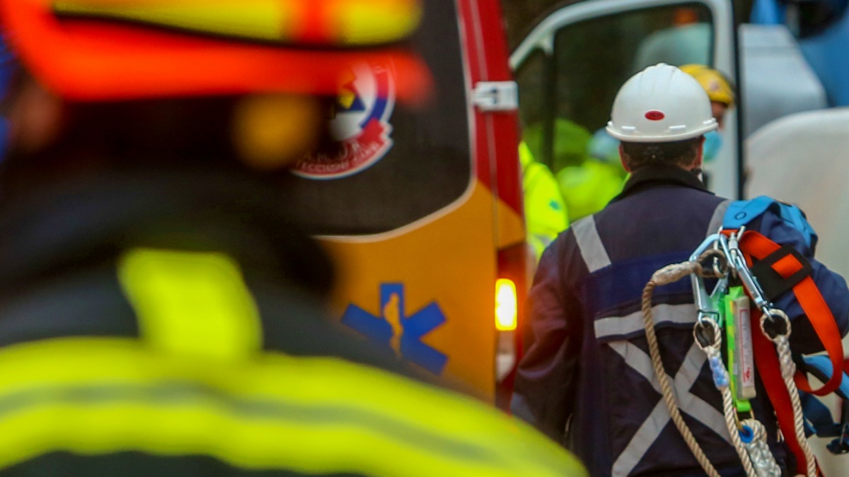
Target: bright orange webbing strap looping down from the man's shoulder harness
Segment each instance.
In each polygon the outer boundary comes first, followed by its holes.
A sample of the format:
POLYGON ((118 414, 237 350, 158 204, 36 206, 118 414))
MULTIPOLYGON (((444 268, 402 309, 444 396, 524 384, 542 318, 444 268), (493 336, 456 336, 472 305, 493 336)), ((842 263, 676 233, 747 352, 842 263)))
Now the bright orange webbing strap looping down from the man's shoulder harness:
MULTIPOLYGON (((767 239, 761 233, 754 231, 743 233, 743 236, 739 240, 739 247, 750 267, 752 257, 761 260, 781 248, 779 244, 767 239)), ((776 261, 773 264, 773 270, 778 272, 783 278, 790 277, 793 273, 801 269, 801 267, 801 263, 792 255, 787 255, 784 259, 776 261)), ((802 311, 805 311, 805 315, 811 323, 813 330, 817 333, 819 341, 828 353, 832 366, 831 378, 818 390, 812 389, 811 384, 807 381, 807 377, 801 372, 796 373, 796 386, 805 392, 824 396, 834 392, 841 385, 841 379, 843 378, 843 344, 841 342, 841 332, 837 328, 835 317, 831 314, 831 309, 829 309, 823 295, 819 292, 817 284, 813 283, 813 278, 808 276, 803 278, 801 282, 796 283, 793 286, 793 293, 796 295, 796 300, 799 301, 802 311)))

